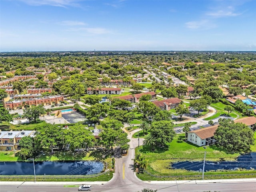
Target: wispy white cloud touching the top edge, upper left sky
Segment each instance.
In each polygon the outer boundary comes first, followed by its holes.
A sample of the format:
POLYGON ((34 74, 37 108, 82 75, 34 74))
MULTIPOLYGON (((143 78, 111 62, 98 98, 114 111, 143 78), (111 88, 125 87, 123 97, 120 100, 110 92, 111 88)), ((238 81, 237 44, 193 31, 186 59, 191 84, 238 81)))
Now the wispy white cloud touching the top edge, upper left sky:
POLYGON ((26 4, 32 6, 41 6, 41 5, 50 5, 50 6, 59 6, 59 7, 66 7, 66 6, 78 6, 76 2, 81 0, 20 0, 25 2, 26 4))

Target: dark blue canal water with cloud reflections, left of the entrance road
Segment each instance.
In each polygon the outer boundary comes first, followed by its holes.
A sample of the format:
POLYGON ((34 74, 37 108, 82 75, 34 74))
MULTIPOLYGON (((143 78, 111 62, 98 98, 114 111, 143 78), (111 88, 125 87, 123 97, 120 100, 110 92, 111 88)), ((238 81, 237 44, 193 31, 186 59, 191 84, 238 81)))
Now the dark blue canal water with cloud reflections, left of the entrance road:
MULTIPOLYGON (((102 162, 35 162, 36 175, 91 175, 102 172, 102 162)), ((0 162, 0 175, 34 175, 33 162, 0 162)))

